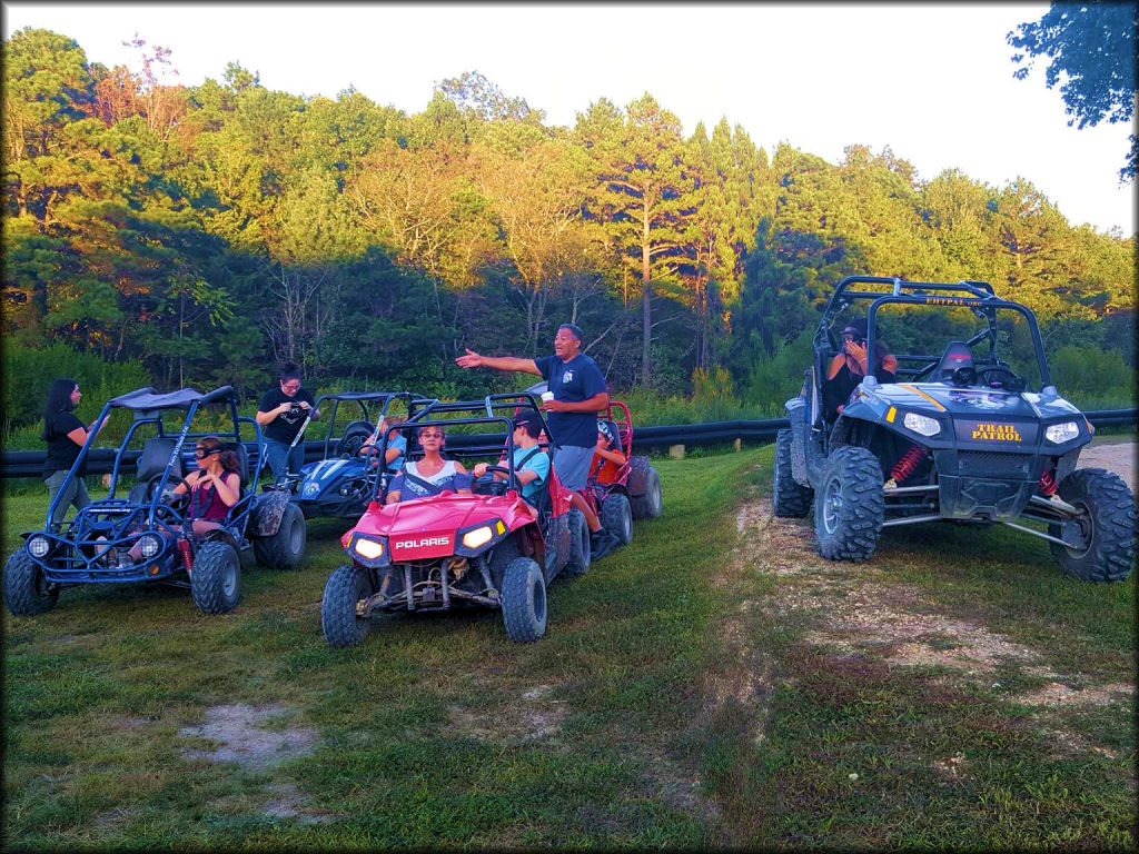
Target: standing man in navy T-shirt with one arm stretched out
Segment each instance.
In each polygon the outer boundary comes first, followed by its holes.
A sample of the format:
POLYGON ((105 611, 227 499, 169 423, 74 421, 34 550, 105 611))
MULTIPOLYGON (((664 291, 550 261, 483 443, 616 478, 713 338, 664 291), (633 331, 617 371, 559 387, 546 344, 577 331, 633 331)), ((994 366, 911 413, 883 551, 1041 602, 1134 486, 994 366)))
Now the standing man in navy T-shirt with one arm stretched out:
POLYGON ((597 413, 609 405, 605 376, 597 362, 581 352, 582 331, 573 323, 563 323, 554 336, 554 355, 541 359, 484 356, 473 350, 456 359, 460 368, 493 368, 542 377, 554 393, 542 401, 549 413, 554 449, 554 470, 562 485, 574 492, 574 507, 585 517, 591 532, 593 558, 603 557, 616 544, 616 535, 605 531, 585 500, 579 494, 585 488, 589 465, 597 445, 597 413))

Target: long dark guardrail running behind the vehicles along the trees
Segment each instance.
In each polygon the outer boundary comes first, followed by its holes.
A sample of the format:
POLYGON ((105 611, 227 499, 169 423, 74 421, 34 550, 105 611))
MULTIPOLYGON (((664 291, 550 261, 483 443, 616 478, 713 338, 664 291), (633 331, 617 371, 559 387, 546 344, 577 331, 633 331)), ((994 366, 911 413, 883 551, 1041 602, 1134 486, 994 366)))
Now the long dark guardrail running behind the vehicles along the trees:
MULTIPOLYGON (((1139 409, 1108 409, 1099 412, 1085 412, 1088 420, 1096 427, 1120 427, 1139 424, 1139 409)), ((768 443, 775 442, 776 433, 788 426, 786 418, 772 418, 765 421, 707 421, 705 424, 674 424, 656 427, 637 427, 633 430, 633 451, 649 451, 670 445, 715 445, 726 442, 768 443)), ((472 433, 452 434, 446 438, 452 451, 468 453, 493 452, 501 447, 502 437, 499 434, 472 433)), ((304 443, 304 460, 319 460, 323 453, 323 441, 304 443)), ((123 463, 131 470, 139 451, 128 451, 123 463)), ((5 451, 0 458, 0 478, 40 477, 43 470, 46 451, 5 451)), ((109 449, 91 449, 88 457, 87 473, 89 475, 108 474, 114 466, 115 453, 109 449)), ((249 454, 249 466, 256 466, 256 452, 249 454)))

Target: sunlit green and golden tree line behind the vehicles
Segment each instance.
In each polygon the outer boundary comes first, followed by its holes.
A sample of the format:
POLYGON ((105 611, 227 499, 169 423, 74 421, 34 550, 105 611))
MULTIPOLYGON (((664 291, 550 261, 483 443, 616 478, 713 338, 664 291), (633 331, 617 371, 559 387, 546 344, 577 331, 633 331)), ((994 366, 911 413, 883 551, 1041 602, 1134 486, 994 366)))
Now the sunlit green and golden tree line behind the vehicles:
POLYGON ((861 145, 769 156, 723 118, 686 136, 648 93, 552 126, 477 72, 412 115, 237 63, 187 87, 132 44, 107 68, 46 30, 3 43, 9 354, 246 395, 289 360, 310 386, 462 396, 502 381, 457 369, 464 347, 542 354, 572 320, 614 388, 719 370, 746 397, 834 282, 869 273, 990 281, 1054 350, 1134 367, 1133 238, 1068 223, 1026 176, 926 180, 861 145))

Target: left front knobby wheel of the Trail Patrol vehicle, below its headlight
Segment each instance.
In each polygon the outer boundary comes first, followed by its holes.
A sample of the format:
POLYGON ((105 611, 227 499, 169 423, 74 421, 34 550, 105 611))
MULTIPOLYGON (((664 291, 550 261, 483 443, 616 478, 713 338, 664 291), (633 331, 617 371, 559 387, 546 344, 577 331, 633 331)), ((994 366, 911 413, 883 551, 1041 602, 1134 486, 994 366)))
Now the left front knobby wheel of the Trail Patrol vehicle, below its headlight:
POLYGON ((814 537, 828 560, 874 555, 885 519, 882 467, 865 447, 836 447, 814 498, 814 537))

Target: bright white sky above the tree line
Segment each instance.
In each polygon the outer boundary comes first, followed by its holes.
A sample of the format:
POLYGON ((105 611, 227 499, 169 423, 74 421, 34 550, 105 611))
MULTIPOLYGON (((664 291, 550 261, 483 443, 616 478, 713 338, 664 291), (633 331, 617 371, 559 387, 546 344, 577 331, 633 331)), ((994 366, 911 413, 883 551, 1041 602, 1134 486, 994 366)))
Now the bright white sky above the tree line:
POLYGON ((1005 34, 1047 2, 1015 3, 44 3, 3 2, 25 26, 75 39, 89 61, 138 68, 137 32, 170 48, 169 82, 221 81, 335 98, 352 85, 418 113, 434 85, 478 71, 572 125, 606 97, 648 91, 690 133, 722 116, 770 156, 780 140, 837 163, 888 145, 923 180, 944 169, 1000 187, 1027 178, 1073 225, 1136 230, 1118 184, 1132 128, 1067 126, 1038 67, 1016 81, 1005 34))

